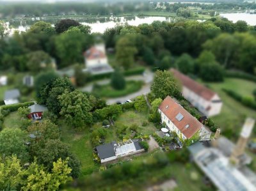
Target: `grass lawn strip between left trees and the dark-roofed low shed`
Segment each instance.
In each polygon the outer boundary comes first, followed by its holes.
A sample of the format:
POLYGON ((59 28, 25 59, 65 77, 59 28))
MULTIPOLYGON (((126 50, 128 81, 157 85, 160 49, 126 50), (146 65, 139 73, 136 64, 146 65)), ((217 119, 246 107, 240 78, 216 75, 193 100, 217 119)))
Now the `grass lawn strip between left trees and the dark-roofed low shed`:
POLYGON ((89 127, 84 130, 76 130, 68 126, 64 121, 59 121, 61 141, 70 145, 71 151, 81 162, 81 178, 99 169, 99 164, 93 161, 93 147, 90 142, 89 127))

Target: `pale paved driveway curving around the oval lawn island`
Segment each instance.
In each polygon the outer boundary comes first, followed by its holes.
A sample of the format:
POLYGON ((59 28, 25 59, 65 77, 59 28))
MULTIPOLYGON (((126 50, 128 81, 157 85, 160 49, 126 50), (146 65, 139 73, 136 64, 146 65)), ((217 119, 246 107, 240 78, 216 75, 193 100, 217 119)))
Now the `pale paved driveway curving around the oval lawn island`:
MULTIPOLYGON (((132 100, 136 96, 140 96, 148 93, 150 91, 150 86, 151 86, 153 77, 154 77, 154 73, 151 72, 150 70, 145 70, 145 73, 143 75, 133 75, 133 76, 125 77, 125 80, 143 80, 145 82, 145 85, 140 89, 140 91, 137 91, 130 95, 122 96, 119 98, 109 98, 107 99, 107 103, 113 104, 116 102, 125 102, 126 100, 132 100)), ((98 80, 96 82, 92 82, 88 84, 84 88, 81 88, 81 91, 92 92, 93 84, 104 85, 104 84, 109 84, 109 82, 110 82, 110 79, 98 80)))

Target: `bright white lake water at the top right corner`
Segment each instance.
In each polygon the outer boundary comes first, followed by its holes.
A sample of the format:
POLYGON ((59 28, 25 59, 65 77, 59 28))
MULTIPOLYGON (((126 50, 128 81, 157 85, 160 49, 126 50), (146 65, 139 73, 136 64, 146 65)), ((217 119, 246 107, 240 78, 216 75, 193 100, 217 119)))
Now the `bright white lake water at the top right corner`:
POLYGON ((220 13, 221 17, 225 17, 232 22, 237 22, 237 20, 244 20, 247 24, 251 26, 256 25, 256 14, 249 13, 220 13))

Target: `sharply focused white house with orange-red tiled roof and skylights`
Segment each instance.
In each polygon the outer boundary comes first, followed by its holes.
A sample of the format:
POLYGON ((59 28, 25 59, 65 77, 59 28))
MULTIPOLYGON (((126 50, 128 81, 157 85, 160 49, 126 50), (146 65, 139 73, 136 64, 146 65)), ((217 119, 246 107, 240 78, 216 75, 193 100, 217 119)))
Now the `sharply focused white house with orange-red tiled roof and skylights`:
POLYGON ((211 130, 200 123, 170 96, 163 100, 158 111, 161 114, 161 122, 166 124, 166 128, 170 132, 175 132, 178 135, 179 140, 177 141, 180 146, 182 146, 180 139, 186 141, 186 139, 193 138, 195 134, 198 134, 202 141, 210 139, 211 130))

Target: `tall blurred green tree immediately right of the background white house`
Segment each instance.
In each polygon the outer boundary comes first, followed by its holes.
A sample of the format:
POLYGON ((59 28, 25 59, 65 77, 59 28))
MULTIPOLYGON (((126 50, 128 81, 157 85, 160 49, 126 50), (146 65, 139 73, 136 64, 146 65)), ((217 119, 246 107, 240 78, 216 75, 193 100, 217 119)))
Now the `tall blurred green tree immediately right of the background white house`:
POLYGON ((116 61, 125 69, 134 64, 134 55, 137 52, 133 40, 127 35, 121 37, 116 43, 116 61))

